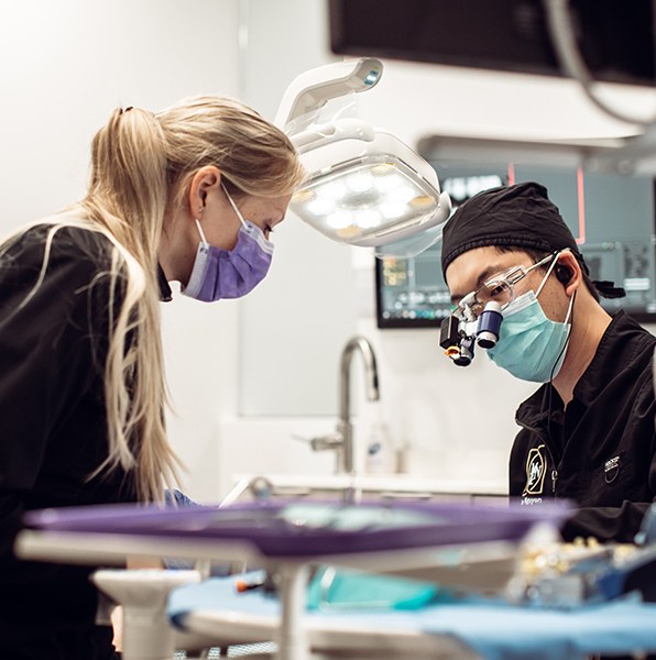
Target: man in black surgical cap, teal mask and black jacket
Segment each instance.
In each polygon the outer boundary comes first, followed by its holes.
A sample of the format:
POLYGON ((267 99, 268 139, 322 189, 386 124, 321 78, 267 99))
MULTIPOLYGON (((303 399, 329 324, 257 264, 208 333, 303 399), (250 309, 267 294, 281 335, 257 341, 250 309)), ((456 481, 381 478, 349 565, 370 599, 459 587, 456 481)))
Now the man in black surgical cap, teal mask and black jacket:
POLYGON ((492 188, 461 205, 445 227, 441 260, 456 305, 478 315, 485 300, 501 304, 489 358, 542 383, 516 413, 511 497, 573 502, 566 540, 633 541, 656 497, 656 338, 624 311, 603 309, 599 296, 623 289, 590 278, 539 184, 492 188))

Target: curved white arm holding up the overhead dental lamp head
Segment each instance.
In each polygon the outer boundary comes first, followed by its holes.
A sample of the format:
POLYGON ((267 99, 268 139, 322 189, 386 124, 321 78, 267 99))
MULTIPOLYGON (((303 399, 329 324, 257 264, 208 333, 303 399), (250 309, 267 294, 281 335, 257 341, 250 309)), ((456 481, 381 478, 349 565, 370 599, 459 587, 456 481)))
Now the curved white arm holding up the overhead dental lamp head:
POLYGON ((383 75, 383 63, 373 57, 336 62, 297 76, 287 87, 275 124, 284 128, 292 120, 318 110, 330 99, 371 89, 383 75))

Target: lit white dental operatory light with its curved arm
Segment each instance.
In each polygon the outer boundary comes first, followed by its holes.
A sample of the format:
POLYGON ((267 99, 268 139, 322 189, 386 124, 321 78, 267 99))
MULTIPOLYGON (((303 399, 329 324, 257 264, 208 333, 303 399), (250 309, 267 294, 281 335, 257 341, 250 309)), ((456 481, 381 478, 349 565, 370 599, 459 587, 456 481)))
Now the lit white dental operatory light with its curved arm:
POLYGON ((308 174, 292 210, 334 241, 408 256, 439 239, 451 210, 435 169, 398 138, 363 120, 317 121, 329 100, 371 89, 382 72, 373 58, 306 72, 285 91, 276 123, 308 174))

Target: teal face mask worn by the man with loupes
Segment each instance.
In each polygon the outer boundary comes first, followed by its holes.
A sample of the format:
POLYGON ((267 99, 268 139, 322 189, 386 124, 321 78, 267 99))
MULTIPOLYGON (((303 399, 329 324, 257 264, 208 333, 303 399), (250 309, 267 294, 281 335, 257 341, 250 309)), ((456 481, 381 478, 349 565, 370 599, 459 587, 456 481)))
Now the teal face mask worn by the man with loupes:
MULTIPOLYGON (((548 274, 547 274, 548 276, 548 274)), ((539 290, 538 289, 538 295, 539 290)), ((488 351, 494 364, 522 381, 548 383, 558 375, 567 353, 573 296, 565 322, 547 318, 532 290, 503 310, 499 343, 488 351)))

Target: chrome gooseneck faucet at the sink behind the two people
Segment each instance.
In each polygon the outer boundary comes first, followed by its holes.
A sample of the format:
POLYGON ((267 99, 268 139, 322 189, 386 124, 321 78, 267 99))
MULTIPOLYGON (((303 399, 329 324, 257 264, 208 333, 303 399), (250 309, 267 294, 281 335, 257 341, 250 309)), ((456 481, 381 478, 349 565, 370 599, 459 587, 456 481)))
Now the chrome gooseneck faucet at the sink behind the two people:
POLYGON ((353 472, 353 425, 351 422, 351 362, 359 352, 364 362, 367 398, 370 402, 380 399, 379 373, 375 354, 369 340, 364 337, 350 339, 341 352, 339 378, 339 422, 334 433, 313 438, 310 446, 315 451, 335 449, 337 451, 337 472, 353 472))

